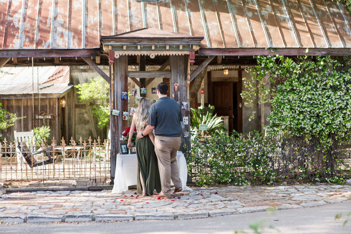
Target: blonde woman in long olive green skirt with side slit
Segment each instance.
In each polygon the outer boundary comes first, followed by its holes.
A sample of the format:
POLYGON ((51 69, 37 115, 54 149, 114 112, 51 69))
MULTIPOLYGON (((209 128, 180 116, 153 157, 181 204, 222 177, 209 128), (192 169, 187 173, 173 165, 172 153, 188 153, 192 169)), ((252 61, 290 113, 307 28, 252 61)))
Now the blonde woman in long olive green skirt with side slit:
MULTIPOLYGON (((131 148, 132 136, 134 127, 137 132, 143 132, 147 126, 149 118, 151 102, 147 98, 141 98, 138 108, 133 115, 131 130, 129 132, 128 148, 131 148)), ((135 147, 137 149, 138 158, 138 183, 137 193, 143 193, 143 196, 152 195, 154 189, 157 193, 161 192, 161 179, 158 169, 158 161, 155 153, 155 141, 152 133, 146 135, 144 138, 136 139, 135 147)))

